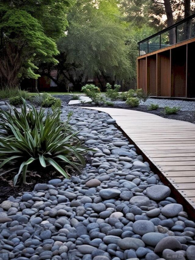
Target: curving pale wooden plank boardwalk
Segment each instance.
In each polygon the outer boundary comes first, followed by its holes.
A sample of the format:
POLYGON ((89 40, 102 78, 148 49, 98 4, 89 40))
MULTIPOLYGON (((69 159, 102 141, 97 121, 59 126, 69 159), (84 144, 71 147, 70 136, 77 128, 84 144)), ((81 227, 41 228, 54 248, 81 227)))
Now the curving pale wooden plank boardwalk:
POLYGON ((195 124, 135 110, 86 108, 114 118, 184 202, 195 209, 195 124))

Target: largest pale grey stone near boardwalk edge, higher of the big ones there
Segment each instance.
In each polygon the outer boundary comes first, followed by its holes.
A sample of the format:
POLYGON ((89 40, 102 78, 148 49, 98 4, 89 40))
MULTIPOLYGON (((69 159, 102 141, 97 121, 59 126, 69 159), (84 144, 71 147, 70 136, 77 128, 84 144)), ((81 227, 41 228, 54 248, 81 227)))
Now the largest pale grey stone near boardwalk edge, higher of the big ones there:
POLYGON ((152 200, 162 200, 166 197, 168 197, 171 193, 171 190, 169 187, 165 185, 153 185, 151 187, 148 187, 146 189, 147 196, 152 200))

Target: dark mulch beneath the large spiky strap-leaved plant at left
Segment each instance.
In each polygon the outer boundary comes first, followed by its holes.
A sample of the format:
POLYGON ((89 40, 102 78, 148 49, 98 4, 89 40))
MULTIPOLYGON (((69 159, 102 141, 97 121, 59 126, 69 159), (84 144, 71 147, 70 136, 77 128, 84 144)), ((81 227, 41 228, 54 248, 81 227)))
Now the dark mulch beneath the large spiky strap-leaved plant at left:
MULTIPOLYGON (((84 157, 86 163, 91 163, 91 157, 88 154, 84 155, 84 157)), ((82 167, 80 167, 80 169, 82 169, 82 167)), ((0 171, 0 173, 6 170, 8 170, 8 168, 4 168, 2 171, 0 171)), ((70 170, 68 172, 72 173, 73 175, 80 174, 77 170, 75 170, 74 173, 70 170)), ((64 178, 59 172, 56 172, 52 166, 47 167, 46 169, 40 167, 40 169, 37 169, 37 171, 27 173, 27 183, 23 183, 22 180, 20 180, 16 187, 13 187, 13 177, 15 174, 16 170, 0 177, 0 204, 10 196, 16 198, 21 196, 24 191, 33 191, 34 185, 37 183, 48 183, 48 181, 52 179, 64 178)))

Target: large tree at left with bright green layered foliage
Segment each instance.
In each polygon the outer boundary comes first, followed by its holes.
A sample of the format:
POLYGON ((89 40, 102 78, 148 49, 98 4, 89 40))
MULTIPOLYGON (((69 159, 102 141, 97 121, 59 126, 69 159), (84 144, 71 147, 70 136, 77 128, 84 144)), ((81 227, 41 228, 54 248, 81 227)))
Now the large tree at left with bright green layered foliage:
POLYGON ((0 4, 0 78, 2 86, 17 87, 40 62, 57 64, 55 40, 64 35, 66 12, 74 0, 2 1, 0 4), (56 17, 55 17, 56 16, 56 17), (55 19, 54 19, 55 18, 55 19))

